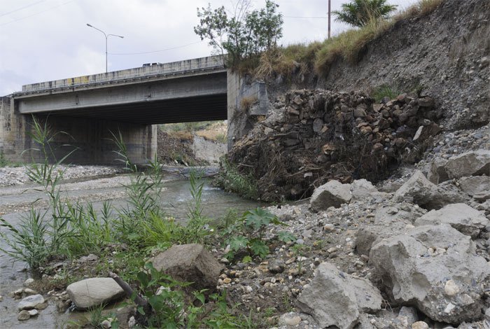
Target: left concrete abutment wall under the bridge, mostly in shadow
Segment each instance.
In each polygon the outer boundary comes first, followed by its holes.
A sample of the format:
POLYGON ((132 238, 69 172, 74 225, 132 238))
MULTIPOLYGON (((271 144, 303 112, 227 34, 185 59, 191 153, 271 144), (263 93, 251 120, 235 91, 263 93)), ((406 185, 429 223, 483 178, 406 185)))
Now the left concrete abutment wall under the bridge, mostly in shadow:
MULTIPOLYGON (((0 152, 13 162, 41 161, 41 154, 31 139, 32 117, 22 115, 16 109, 10 97, 0 98, 0 152)), ((134 123, 119 123, 110 120, 92 118, 73 118, 65 116, 36 116, 41 123, 48 123, 50 131, 55 134, 50 145, 54 150, 54 161, 76 149, 66 163, 79 165, 98 164, 114 165, 118 162, 118 151, 113 134, 119 136, 127 146, 127 153, 132 162, 146 163, 157 151, 157 126, 134 123)))

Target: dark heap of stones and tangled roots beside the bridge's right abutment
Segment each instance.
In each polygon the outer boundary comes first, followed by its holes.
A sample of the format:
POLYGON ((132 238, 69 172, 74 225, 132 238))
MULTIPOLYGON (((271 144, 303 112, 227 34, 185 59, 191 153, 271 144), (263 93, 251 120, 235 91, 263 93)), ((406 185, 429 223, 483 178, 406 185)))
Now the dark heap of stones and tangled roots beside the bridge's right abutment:
POLYGON ((419 160, 440 132, 435 105, 408 94, 374 104, 364 92, 291 91, 229 158, 243 172, 253 169, 267 201, 308 197, 331 179, 379 181, 400 162, 419 160))

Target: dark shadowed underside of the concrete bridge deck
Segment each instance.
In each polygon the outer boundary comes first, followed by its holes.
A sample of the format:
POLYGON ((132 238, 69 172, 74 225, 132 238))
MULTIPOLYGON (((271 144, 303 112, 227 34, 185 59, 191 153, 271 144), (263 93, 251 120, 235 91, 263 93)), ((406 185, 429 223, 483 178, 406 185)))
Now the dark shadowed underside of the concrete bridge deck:
POLYGON ((76 111, 45 111, 42 114, 43 116, 93 118, 146 125, 226 120, 227 95, 213 94, 144 103, 98 106, 97 108, 83 108, 76 111))

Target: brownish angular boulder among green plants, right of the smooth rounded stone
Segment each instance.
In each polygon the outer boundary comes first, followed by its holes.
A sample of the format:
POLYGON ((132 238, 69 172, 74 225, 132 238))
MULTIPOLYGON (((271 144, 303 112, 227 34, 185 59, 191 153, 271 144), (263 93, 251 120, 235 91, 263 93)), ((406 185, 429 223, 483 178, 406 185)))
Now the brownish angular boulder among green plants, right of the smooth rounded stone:
POLYGON ((193 282, 195 290, 216 290, 223 265, 201 244, 174 245, 152 260, 153 267, 177 281, 193 282))

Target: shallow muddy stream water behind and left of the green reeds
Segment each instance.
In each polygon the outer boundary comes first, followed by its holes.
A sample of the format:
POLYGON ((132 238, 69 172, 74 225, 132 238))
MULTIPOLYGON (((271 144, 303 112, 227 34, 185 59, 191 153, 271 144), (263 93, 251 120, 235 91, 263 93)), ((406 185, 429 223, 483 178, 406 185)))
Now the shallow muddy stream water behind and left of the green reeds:
MULTIPOLYGON (((176 180, 174 176, 168 177, 165 182, 165 190, 162 193, 162 208, 178 220, 185 221, 188 204, 191 200, 190 183, 186 180, 176 180)), ((78 200, 82 204, 92 202, 96 209, 102 207, 102 202, 110 201, 115 209, 124 207, 125 188, 122 184, 130 182, 129 176, 115 176, 90 181, 63 184, 62 190, 65 197, 78 200)), ((0 187, 0 216, 14 226, 20 223, 22 216, 34 202, 34 206, 43 207, 46 199, 43 193, 34 190, 34 186, 0 187), (37 201, 36 201, 37 200, 37 201), (36 201, 36 202, 34 202, 36 201)), ((203 214, 210 218, 220 218, 228 209, 245 211, 258 206, 256 202, 242 200, 236 195, 223 192, 218 188, 204 186, 202 193, 203 214)), ((0 228, 0 230, 5 230, 0 228)), ((0 246, 6 247, 4 241, 0 246)), ((27 321, 18 321, 17 305, 19 300, 13 300, 9 293, 22 288, 22 283, 31 277, 23 262, 14 262, 12 258, 0 253, 0 328, 64 328, 69 321, 76 321, 83 314, 58 314, 55 303, 50 301, 47 309, 27 321)), ((45 296, 46 297, 46 296, 45 296)))

